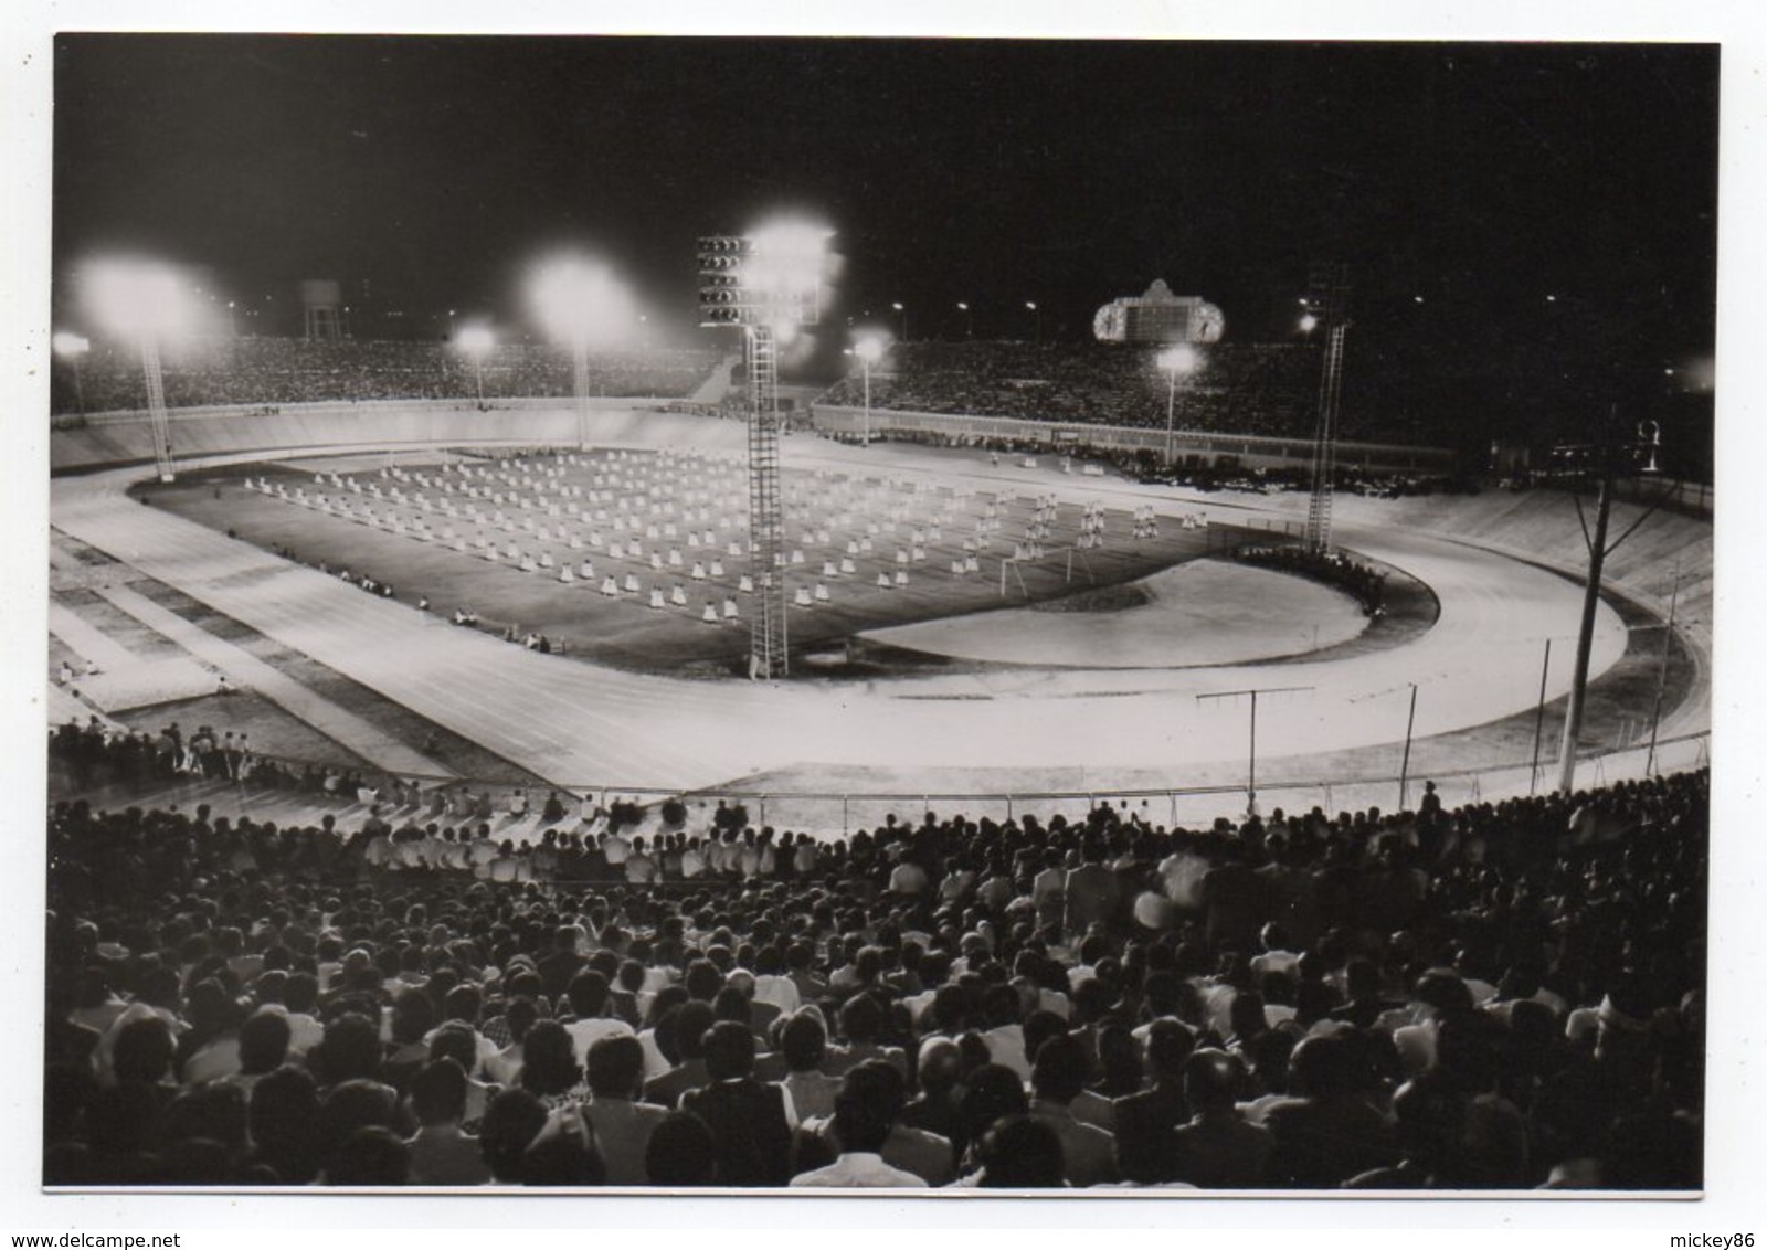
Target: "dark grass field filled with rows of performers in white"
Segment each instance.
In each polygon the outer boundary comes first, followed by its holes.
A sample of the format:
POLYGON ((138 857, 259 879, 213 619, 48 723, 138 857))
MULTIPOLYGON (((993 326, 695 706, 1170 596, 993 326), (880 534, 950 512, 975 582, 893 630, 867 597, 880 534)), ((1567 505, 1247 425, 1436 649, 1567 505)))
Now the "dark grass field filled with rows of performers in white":
MULTIPOLYGON (((479 614, 481 629, 535 630, 599 664, 671 674, 742 671, 753 595, 740 590, 751 572, 740 461, 599 450, 449 470, 366 470, 357 457, 350 468, 359 471, 267 464, 140 491, 244 542, 391 584, 401 602, 424 597, 442 629, 459 606, 479 614), (247 489, 247 473, 279 493, 247 489), (320 494, 334 510, 315 507, 320 494), (696 563, 701 577, 693 576, 696 563), (558 577, 565 565, 571 583, 558 577), (603 593, 608 576, 618 595, 603 593), (664 595, 663 607, 650 606, 652 590, 664 595), (677 590, 682 604, 670 602, 677 590), (737 621, 723 620, 726 600, 737 621), (703 621, 707 604, 719 623, 703 621)), ((1094 521, 1103 526, 1101 546, 1074 549, 1085 524, 1080 505, 834 471, 788 470, 785 486, 788 595, 802 588, 813 597, 813 606, 790 611, 795 651, 827 650, 869 629, 1129 583, 1239 538, 1230 528, 1186 530, 1170 519, 1134 537, 1131 512, 1104 508, 1094 521), (1009 560, 1039 524, 1046 554, 1009 560), (965 558, 974 569, 954 572, 952 561, 965 558)))

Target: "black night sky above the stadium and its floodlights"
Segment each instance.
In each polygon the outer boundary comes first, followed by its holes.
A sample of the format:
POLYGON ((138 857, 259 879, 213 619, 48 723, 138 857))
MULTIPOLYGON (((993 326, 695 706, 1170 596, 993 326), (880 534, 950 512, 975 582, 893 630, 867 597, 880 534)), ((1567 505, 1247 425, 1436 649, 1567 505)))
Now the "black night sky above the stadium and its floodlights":
POLYGON ((1256 339, 1286 332, 1311 260, 1341 258, 1359 323, 1444 351, 1567 309, 1592 351, 1710 351, 1710 46, 72 35, 57 55, 58 274, 127 245, 281 309, 299 279, 366 279, 445 328, 447 307, 514 323, 523 263, 578 242, 686 335, 694 237, 795 207, 838 231, 836 327, 901 300, 912 337, 958 335, 967 300, 977 335, 1018 337, 1035 300, 1046 335, 1081 337, 1164 277, 1256 339))

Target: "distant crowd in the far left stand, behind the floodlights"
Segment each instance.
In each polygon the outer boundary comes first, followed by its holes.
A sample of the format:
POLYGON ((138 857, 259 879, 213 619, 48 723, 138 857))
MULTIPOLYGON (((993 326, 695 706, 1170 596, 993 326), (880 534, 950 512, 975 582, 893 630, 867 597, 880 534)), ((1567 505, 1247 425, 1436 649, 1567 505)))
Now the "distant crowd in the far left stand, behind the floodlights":
MULTIPOLYGON (((590 387, 606 395, 682 397, 719 362, 717 351, 592 351, 590 387)), ((140 358, 95 344, 80 365, 80 392, 53 390, 57 413, 127 411, 147 404, 140 358)), ((346 339, 205 339, 164 357, 166 404, 306 404, 359 399, 461 399, 477 403, 472 360, 447 343, 346 339)), ((571 357, 560 348, 500 343, 484 360, 486 403, 504 395, 571 395, 571 357)))

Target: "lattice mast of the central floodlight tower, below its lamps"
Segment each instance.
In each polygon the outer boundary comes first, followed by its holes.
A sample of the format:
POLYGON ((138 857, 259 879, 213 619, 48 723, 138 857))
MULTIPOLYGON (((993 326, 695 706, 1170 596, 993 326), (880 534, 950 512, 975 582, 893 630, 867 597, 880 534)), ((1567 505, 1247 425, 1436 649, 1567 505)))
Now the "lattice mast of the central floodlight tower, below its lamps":
POLYGON ((779 355, 765 325, 744 328, 749 383, 749 676, 783 678, 786 662, 785 508, 779 489, 779 355))

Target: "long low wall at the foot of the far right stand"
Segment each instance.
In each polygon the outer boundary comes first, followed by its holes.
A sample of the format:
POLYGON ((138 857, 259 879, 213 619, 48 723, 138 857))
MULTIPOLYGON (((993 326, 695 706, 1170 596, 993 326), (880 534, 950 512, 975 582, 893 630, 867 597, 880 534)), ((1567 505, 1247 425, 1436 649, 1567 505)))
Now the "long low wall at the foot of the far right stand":
MULTIPOLYGON (((868 427, 864 408, 838 404, 811 406, 811 424, 827 434, 859 438, 868 427)), ((1085 425, 1037 420, 1034 417, 974 417, 954 413, 917 413, 873 408, 871 434, 937 434, 951 440, 1007 440, 1041 443, 1062 450, 1149 450, 1164 452, 1166 431, 1134 425, 1085 425)), ((1313 440, 1272 438, 1267 434, 1223 434, 1219 431, 1180 429, 1172 434, 1173 452, 1200 457, 1212 468, 1308 468, 1313 464, 1313 440)), ((1338 463, 1366 473, 1451 473, 1458 456, 1445 447, 1401 447, 1392 443, 1338 443, 1338 463)))

